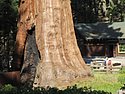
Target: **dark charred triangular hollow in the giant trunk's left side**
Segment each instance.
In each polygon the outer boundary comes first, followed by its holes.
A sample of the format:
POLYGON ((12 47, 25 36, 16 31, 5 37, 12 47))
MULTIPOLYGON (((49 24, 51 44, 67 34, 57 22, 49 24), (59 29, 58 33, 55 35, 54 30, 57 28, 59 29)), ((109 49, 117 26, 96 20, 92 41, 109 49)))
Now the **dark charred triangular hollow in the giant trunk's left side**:
POLYGON ((36 44, 35 26, 28 30, 24 52, 24 62, 21 69, 21 83, 32 85, 35 79, 36 67, 40 54, 36 44))

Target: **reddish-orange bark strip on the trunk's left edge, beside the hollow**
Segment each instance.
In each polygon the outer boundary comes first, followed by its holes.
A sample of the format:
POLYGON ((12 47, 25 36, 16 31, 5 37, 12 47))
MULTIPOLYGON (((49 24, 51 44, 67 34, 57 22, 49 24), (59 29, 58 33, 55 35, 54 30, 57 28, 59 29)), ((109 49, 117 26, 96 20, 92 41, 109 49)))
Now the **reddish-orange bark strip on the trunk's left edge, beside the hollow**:
POLYGON ((34 0, 20 0, 19 2, 19 20, 18 20, 18 32, 16 36, 16 52, 14 69, 20 70, 24 58, 24 49, 26 44, 26 38, 28 30, 32 28, 34 24, 34 0))

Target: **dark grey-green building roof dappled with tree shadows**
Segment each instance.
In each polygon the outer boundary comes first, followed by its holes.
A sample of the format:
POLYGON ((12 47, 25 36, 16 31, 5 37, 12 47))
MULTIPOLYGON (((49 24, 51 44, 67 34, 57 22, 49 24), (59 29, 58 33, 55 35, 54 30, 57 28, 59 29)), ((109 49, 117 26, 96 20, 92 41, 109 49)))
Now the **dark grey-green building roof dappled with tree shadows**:
POLYGON ((125 22, 79 23, 75 29, 85 39, 125 38, 125 22))

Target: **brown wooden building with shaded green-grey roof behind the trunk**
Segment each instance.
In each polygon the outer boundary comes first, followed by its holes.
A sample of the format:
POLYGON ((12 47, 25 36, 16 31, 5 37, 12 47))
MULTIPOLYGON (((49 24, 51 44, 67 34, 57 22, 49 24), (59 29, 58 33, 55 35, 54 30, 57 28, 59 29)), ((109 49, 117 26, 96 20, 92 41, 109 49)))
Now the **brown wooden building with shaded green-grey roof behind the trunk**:
POLYGON ((83 57, 125 56, 125 22, 75 25, 83 57))

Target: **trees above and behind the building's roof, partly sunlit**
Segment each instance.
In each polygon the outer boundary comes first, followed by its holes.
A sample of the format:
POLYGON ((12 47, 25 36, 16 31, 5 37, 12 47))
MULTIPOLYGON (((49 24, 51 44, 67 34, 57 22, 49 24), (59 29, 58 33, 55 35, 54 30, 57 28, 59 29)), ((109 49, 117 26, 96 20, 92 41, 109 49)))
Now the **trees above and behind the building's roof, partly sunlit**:
POLYGON ((71 4, 75 23, 124 21, 125 0, 71 0, 71 4))

